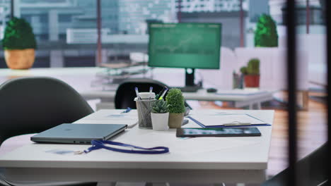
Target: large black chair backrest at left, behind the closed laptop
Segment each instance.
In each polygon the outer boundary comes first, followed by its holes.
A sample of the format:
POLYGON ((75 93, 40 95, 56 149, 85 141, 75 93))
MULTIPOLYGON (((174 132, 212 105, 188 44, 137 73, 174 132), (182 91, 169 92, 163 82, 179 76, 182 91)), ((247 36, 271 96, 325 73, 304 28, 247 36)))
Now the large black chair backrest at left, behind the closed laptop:
POLYGON ((0 85, 0 144, 8 137, 72 123, 93 109, 61 80, 20 77, 0 85))

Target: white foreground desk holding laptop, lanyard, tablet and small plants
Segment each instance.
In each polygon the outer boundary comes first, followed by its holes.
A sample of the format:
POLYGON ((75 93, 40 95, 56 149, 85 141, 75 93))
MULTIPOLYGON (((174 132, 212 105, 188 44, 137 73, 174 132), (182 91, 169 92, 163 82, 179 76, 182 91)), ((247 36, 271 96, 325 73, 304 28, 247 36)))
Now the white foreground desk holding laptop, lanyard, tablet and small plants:
MULTIPOLYGON (((125 123, 110 118, 122 110, 101 110, 75 123, 125 123)), ((132 111, 132 112, 135 112, 132 111)), ((221 110, 197 110, 219 113, 221 110)), ((273 123, 274 111, 226 111, 249 113, 273 123)), ((194 113, 192 114, 194 116, 194 113)), ((194 123, 185 128, 199 127, 194 123)), ((50 154, 51 149, 83 150, 85 144, 35 144, 31 142, 0 157, 9 180, 98 182, 262 182, 269 155, 272 127, 259 127, 261 137, 200 137, 183 140, 175 130, 127 129, 112 140, 141 147, 165 146, 170 153, 124 154, 99 149, 88 154, 50 154)))

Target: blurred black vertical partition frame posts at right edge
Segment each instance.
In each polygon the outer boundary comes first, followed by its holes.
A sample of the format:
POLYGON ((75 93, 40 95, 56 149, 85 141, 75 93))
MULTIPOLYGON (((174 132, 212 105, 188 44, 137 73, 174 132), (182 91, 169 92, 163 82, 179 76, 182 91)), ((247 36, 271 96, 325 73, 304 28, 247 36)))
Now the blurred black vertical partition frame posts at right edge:
MULTIPOLYGON (((328 82, 330 80, 330 75, 328 73, 329 68, 328 64, 331 63, 331 1, 324 1, 326 8, 325 8, 325 15, 326 15, 326 25, 327 25, 327 141, 330 137, 330 111, 328 109, 330 105, 329 99, 329 88, 328 82)), ((286 33, 287 33, 287 82, 288 82, 288 97, 289 97, 289 104, 288 104, 288 134, 289 134, 289 175, 287 177, 287 185, 301 185, 305 184, 302 180, 308 179, 309 175, 301 175, 301 170, 298 170, 296 167, 297 161, 297 106, 296 106, 296 13, 295 13, 295 6, 296 1, 287 0, 286 1, 286 33), (308 178, 307 178, 308 177, 308 178), (299 180, 301 179, 301 180, 299 180)), ((327 143, 327 157, 330 157, 330 143, 327 143)), ((329 161, 329 160, 328 160, 329 161)), ((327 178, 326 182, 321 183, 320 185, 329 185, 330 182, 330 162, 325 162, 325 166, 327 167, 327 178)), ((307 184, 307 183, 306 183, 307 184)))

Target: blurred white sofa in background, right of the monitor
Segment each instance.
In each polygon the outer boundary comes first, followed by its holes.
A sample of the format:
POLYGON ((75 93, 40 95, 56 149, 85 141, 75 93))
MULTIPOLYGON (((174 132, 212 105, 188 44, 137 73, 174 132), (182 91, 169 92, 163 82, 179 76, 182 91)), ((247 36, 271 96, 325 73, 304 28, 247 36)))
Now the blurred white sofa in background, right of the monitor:
MULTIPOLYGON (((236 48, 234 51, 221 47, 219 70, 202 70, 197 72, 202 76, 204 87, 232 89, 233 71, 239 72, 242 66, 247 66, 251 58, 260 59, 260 88, 281 90, 287 89, 286 49, 278 47, 236 48)), ((308 54, 298 51, 298 89, 308 90, 308 54)))

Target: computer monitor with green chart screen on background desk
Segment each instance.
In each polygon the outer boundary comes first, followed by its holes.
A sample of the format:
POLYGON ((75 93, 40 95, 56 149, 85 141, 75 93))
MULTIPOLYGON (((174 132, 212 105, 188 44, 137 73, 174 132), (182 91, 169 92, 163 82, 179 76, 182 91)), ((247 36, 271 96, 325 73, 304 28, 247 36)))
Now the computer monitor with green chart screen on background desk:
POLYGON ((185 86, 194 69, 219 69, 220 23, 149 23, 149 66, 185 68, 185 86))

